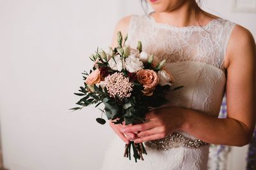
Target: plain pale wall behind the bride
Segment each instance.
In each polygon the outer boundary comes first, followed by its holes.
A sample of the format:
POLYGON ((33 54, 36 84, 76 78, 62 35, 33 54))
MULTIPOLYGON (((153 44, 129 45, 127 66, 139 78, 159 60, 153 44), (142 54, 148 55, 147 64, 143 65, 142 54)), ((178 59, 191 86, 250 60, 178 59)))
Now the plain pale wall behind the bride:
MULTIPOLYGON (((203 1, 210 13, 256 36, 256 14, 232 12, 232 0, 203 1)), ((69 111, 88 56, 111 44, 116 22, 142 14, 139 0, 0 0, 0 118, 10 170, 99 169, 108 124, 93 106, 69 111)), ((245 169, 247 146, 232 148, 229 169, 245 169)), ((122 155, 120 155, 122 156, 122 155)))

